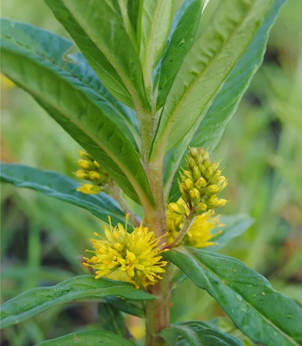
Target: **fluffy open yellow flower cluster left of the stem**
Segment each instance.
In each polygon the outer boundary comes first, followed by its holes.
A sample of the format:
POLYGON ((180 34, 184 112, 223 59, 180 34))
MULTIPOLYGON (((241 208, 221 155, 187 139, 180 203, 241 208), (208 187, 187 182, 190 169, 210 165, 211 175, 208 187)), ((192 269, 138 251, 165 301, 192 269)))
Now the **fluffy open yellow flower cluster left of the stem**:
MULTIPOLYGON (((136 288, 154 285, 158 279, 162 279, 160 273, 165 273, 162 267, 167 262, 161 261, 159 254, 163 251, 158 247, 160 238, 156 238, 154 232, 149 232, 142 226, 127 233, 126 215, 125 228, 119 223, 116 227, 111 225, 109 229, 104 226, 105 237, 94 233, 98 239, 90 239, 94 251, 92 258, 84 259, 85 266, 96 269, 96 279, 105 277, 113 280, 131 282, 136 288)), ((164 250, 167 251, 167 250, 164 250)))

